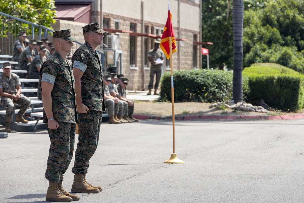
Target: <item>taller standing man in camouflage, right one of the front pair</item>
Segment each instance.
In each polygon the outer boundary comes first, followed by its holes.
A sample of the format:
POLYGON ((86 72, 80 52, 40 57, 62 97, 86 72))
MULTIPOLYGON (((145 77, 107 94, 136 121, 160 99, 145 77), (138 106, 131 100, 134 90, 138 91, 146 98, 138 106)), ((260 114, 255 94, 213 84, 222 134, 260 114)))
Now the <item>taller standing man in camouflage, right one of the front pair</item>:
POLYGON ((78 144, 75 152, 74 167, 72 168, 75 177, 71 191, 96 193, 102 190, 100 186, 95 187, 88 184, 94 189, 98 189, 98 191, 94 191, 88 189, 85 184, 81 185, 81 181, 85 180, 90 159, 96 151, 102 111, 105 111, 102 65, 96 51, 97 45, 96 47, 91 45, 96 44, 95 37, 96 39, 98 38, 101 44, 102 33, 105 32, 100 29, 99 23, 88 24, 82 28, 85 44, 81 45, 72 57, 78 110, 78 144))

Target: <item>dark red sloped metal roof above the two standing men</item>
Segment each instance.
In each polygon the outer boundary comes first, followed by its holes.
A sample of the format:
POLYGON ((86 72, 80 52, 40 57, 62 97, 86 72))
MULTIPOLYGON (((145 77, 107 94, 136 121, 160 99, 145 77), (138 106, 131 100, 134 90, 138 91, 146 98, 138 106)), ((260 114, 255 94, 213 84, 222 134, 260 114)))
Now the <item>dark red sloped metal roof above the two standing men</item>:
POLYGON ((54 19, 91 23, 91 4, 56 4, 54 19))

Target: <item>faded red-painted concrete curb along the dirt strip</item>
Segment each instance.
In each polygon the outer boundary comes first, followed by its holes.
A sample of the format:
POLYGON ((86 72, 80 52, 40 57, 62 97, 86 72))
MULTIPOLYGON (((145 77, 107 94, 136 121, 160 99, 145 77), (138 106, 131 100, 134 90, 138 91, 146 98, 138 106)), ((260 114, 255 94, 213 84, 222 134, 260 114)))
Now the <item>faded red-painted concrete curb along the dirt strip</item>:
MULTIPOLYGON (((155 117, 155 116, 145 116, 145 115, 133 115, 134 118, 139 120, 155 119, 155 120, 172 120, 172 117, 155 117)), ((303 114, 295 115, 281 115, 281 116, 182 116, 175 117, 175 120, 192 120, 192 119, 265 119, 265 120, 295 120, 304 119, 303 114)))

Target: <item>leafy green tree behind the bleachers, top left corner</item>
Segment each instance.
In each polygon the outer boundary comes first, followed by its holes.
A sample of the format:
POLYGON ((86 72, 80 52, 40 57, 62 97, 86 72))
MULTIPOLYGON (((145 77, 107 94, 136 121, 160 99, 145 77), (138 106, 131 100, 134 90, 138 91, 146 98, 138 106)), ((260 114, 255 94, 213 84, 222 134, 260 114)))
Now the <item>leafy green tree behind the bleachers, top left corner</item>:
MULTIPOLYGON (((1 12, 48 28, 52 28, 52 24, 55 23, 55 8, 54 0, 2 0, 0 4, 1 12)), ((5 26, 9 21, 2 18, 0 23, 5 26)), ((35 31, 37 29, 35 28, 35 31)), ((2 30, 3 33, 5 31, 8 30, 2 30)), ((14 30, 10 31, 14 32, 14 30)))

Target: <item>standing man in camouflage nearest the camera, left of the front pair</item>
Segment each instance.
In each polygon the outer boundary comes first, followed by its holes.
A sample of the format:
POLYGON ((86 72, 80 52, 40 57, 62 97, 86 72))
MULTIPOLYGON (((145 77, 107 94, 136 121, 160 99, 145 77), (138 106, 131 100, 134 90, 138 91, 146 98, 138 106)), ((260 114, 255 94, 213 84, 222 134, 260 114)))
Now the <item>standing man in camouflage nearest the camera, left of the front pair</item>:
MULTIPOLYGON (((70 46, 71 41, 76 41, 70 33, 70 29, 54 31, 53 38, 61 38, 61 44, 65 40, 69 42, 65 46, 70 46)), ((61 47, 57 48, 60 53, 65 52, 61 47)), ((45 177, 49 180, 46 200, 78 200, 78 195, 71 195, 62 188, 64 173, 73 157, 77 111, 72 68, 59 52, 56 51, 42 64, 39 83, 42 92, 43 123, 47 124, 51 142, 45 172, 45 177)))

